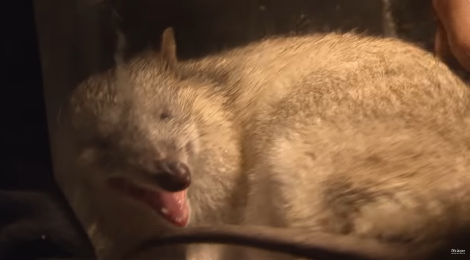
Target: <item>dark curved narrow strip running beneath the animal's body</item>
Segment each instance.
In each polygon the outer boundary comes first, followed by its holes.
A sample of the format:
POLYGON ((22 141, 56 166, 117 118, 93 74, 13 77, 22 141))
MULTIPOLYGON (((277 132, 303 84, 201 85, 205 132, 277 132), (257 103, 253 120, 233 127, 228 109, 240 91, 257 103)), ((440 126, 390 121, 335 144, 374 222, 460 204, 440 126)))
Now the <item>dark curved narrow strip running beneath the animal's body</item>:
POLYGON ((385 244, 353 236, 309 233, 303 229, 223 225, 186 228, 175 234, 155 236, 125 259, 154 247, 178 243, 241 245, 315 260, 427 260, 432 249, 438 246, 385 244))

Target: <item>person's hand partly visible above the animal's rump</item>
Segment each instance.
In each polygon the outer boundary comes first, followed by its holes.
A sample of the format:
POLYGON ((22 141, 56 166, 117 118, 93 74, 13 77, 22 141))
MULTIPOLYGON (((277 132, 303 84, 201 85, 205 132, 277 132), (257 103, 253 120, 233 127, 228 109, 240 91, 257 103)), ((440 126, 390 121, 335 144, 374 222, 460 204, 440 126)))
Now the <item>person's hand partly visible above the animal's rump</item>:
POLYGON ((470 71, 470 0, 433 0, 438 18, 435 51, 453 55, 470 71))

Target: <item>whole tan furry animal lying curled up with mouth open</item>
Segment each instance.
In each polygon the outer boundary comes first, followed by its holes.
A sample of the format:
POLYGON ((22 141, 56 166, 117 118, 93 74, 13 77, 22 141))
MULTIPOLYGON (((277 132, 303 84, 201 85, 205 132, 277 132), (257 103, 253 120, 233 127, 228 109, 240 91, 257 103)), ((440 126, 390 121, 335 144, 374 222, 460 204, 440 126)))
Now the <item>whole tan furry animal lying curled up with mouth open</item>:
POLYGON ((469 227, 470 91, 432 54, 314 34, 177 61, 172 40, 81 84, 58 135, 57 179, 101 259, 198 224, 405 242, 469 227), (155 178, 170 159, 191 172, 178 193, 155 178))

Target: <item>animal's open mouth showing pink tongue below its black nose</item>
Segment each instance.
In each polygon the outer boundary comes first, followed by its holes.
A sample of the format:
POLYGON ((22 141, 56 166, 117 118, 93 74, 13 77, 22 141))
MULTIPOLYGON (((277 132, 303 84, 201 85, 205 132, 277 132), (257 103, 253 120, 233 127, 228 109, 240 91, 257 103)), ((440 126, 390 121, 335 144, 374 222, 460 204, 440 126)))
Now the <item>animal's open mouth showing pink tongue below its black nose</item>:
POLYGON ((108 179, 108 184, 124 194, 147 204, 174 226, 185 227, 188 225, 187 189, 178 192, 149 189, 123 177, 110 178, 108 179))

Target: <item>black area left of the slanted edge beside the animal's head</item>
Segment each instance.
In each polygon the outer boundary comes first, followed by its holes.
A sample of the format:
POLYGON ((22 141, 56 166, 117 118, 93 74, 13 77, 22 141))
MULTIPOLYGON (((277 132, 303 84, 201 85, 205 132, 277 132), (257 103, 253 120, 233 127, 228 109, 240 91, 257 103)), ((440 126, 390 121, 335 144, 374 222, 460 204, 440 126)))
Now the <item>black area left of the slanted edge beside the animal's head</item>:
POLYGON ((0 19, 0 259, 92 260, 52 178, 32 1, 3 1, 0 19))

